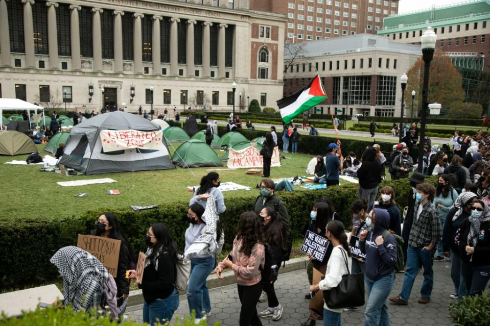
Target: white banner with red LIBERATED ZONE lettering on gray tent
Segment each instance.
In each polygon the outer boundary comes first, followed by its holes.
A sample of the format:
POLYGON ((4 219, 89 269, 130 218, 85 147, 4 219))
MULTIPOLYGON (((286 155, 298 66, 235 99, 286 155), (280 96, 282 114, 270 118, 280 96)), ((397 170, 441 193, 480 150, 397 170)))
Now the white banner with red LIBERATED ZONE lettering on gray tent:
POLYGON ((143 148, 161 149, 161 130, 101 130, 100 139, 104 152, 121 151, 122 149, 143 148))

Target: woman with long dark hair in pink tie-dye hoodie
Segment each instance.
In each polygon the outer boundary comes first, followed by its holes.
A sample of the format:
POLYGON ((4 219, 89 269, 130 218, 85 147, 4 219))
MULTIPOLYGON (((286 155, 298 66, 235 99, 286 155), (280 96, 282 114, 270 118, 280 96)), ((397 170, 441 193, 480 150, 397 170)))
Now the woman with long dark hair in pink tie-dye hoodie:
POLYGON ((240 326, 262 326, 257 314, 257 303, 262 291, 262 274, 265 249, 259 217, 255 212, 244 212, 238 221, 238 230, 230 254, 218 264, 216 275, 231 268, 237 277, 238 296, 242 303, 240 326))

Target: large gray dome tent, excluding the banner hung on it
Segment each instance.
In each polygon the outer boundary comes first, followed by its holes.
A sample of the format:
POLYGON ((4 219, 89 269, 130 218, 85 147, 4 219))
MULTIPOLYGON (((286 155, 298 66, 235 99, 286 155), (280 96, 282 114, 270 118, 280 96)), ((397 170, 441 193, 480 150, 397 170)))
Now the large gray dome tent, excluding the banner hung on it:
POLYGON ((163 170, 175 168, 165 142, 160 149, 124 148, 104 153, 102 130, 159 131, 149 120, 122 111, 99 114, 75 126, 66 141, 59 164, 84 174, 163 170))

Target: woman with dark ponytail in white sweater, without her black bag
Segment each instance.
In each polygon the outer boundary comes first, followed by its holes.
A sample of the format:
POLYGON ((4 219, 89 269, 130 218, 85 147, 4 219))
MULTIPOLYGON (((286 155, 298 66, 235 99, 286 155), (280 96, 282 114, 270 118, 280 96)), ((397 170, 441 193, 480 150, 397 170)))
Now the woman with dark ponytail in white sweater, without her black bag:
MULTIPOLYGON (((342 280, 342 276, 351 271, 351 249, 347 242, 344 224, 341 221, 330 221, 325 228, 325 236, 331 242, 332 254, 326 264, 325 278, 317 285, 310 287, 311 292, 319 290, 326 291, 335 288, 342 280), (347 262, 347 264, 346 264, 347 262)), ((342 325, 342 308, 329 308, 323 304, 323 325, 324 326, 341 326, 342 325)))

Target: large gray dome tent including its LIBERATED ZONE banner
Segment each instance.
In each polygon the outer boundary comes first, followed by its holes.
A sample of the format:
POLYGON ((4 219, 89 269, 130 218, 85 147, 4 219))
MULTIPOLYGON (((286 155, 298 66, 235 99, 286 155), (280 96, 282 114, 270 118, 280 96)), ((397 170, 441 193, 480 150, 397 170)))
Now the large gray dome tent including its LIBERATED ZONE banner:
POLYGON ((161 137, 155 124, 135 114, 99 114, 73 127, 59 164, 84 174, 172 169, 161 137))

